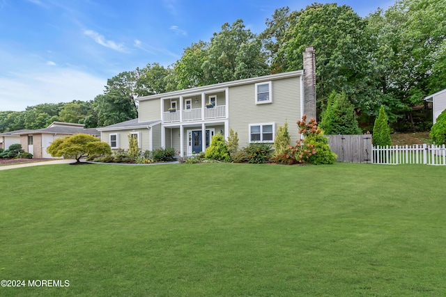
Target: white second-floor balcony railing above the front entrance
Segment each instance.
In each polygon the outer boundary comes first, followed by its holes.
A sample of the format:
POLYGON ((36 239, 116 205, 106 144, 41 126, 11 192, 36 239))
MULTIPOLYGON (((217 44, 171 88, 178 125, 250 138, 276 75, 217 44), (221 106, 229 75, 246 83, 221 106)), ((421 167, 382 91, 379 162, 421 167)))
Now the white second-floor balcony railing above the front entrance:
POLYGON ((183 122, 192 122, 219 118, 226 118, 226 105, 217 105, 210 109, 185 109, 183 111, 175 111, 174 113, 170 111, 162 113, 163 122, 180 122, 181 120, 183 122))

